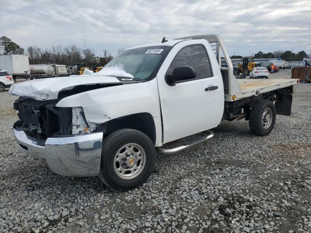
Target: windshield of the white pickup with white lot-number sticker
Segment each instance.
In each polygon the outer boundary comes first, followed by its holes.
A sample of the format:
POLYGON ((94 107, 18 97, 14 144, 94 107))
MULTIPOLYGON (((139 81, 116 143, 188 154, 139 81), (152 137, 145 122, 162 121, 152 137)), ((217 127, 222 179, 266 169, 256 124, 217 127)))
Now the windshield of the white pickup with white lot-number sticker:
POLYGON ((151 46, 125 50, 97 74, 151 80, 170 49, 170 46, 151 46))

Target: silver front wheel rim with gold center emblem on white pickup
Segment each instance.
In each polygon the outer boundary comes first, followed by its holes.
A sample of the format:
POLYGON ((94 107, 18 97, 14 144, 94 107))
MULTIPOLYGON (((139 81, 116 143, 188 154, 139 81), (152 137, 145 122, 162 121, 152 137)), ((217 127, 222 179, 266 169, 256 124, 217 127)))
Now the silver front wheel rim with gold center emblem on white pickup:
POLYGON ((145 163, 145 150, 136 143, 128 143, 115 154, 113 167, 122 179, 133 179, 141 173, 145 163))

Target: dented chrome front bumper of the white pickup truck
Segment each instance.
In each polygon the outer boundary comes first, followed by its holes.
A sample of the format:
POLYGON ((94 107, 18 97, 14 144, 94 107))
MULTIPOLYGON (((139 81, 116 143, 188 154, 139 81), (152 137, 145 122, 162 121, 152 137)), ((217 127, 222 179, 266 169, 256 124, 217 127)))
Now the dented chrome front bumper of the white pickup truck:
POLYGON ((63 176, 97 176, 101 166, 103 133, 49 137, 46 141, 28 136, 22 127, 14 129, 19 147, 43 158, 51 170, 63 176))

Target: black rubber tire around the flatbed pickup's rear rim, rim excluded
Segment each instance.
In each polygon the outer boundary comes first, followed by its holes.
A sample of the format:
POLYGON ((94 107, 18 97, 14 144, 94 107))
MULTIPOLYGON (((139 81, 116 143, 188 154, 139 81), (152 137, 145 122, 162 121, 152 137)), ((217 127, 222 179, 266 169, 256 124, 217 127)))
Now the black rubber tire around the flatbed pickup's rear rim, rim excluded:
POLYGON ((276 122, 276 107, 270 100, 259 100, 256 101, 252 106, 250 114, 249 114, 249 128, 252 133, 259 136, 268 135, 276 122), (263 113, 266 109, 270 109, 270 113, 272 116, 270 125, 263 126, 263 113))

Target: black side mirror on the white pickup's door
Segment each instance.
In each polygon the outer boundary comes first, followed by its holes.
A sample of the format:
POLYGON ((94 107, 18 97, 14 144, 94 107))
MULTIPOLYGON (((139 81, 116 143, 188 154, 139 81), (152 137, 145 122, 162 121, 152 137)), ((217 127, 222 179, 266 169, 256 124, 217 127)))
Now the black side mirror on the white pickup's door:
POLYGON ((184 81, 194 79, 196 77, 196 71, 193 67, 176 67, 173 69, 172 74, 165 76, 168 84, 174 86, 178 81, 184 81))

